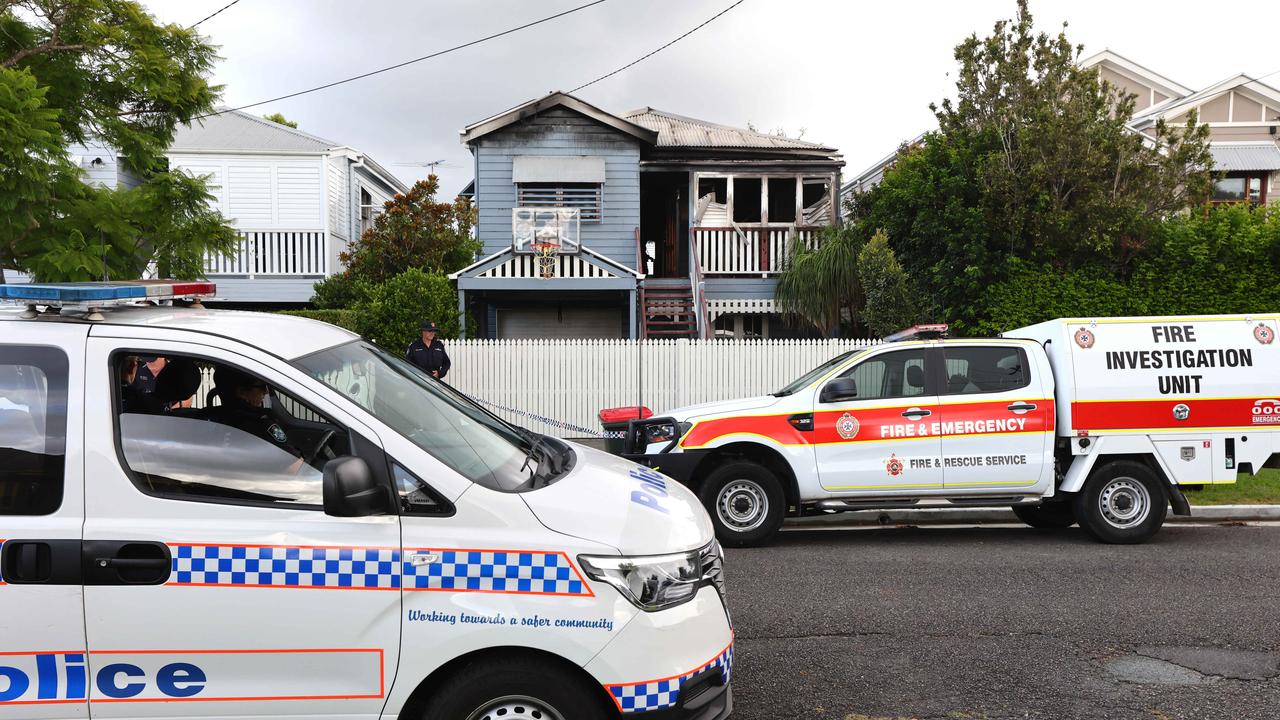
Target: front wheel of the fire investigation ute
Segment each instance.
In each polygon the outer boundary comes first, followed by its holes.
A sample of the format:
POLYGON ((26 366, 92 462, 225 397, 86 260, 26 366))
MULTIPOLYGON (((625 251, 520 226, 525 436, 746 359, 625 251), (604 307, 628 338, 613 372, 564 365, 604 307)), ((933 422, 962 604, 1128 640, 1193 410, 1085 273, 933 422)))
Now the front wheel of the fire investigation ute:
POLYGON ((769 542, 782 527, 786 496, 768 468, 745 460, 721 465, 707 475, 698 496, 716 525, 716 537, 730 547, 769 542))

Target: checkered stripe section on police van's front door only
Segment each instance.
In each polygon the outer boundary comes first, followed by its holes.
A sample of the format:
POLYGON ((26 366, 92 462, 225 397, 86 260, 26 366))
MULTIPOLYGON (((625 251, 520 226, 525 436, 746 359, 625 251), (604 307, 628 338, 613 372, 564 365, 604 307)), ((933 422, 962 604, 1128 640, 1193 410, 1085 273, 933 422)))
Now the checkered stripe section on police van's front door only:
POLYGON ((175 585, 399 588, 399 551, 362 547, 175 544, 175 585))

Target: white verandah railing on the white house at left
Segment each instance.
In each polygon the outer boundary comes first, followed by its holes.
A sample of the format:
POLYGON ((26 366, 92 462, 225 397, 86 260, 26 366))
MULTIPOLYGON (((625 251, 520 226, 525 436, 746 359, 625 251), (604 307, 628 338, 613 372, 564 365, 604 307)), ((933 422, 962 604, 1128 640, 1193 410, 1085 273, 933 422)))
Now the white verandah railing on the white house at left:
POLYGON ((210 275, 314 275, 329 269, 324 231, 239 231, 241 243, 230 255, 205 256, 210 275))

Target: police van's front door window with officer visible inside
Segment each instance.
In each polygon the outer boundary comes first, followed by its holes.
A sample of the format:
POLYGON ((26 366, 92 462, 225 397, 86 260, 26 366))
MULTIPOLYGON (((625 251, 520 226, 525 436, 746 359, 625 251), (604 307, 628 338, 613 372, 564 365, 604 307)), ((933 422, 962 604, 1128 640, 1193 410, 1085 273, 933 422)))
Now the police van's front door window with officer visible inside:
POLYGON ((319 510, 325 462, 351 455, 348 432, 239 368, 165 357, 154 389, 137 355, 113 357, 123 462, 147 495, 319 510))

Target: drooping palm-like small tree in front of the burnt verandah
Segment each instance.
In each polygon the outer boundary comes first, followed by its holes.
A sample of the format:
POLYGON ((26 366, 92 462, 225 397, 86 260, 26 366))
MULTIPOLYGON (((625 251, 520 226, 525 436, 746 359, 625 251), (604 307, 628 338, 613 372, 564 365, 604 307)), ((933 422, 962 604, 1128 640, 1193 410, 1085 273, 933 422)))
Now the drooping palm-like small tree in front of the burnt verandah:
POLYGON ((842 322, 858 323, 864 295, 858 273, 863 238, 854 228, 823 228, 817 249, 791 245, 774 301, 782 313, 812 323, 824 334, 838 334, 842 322))

